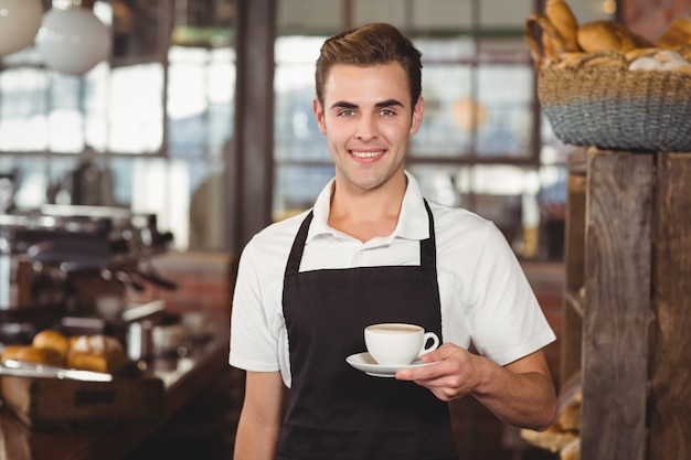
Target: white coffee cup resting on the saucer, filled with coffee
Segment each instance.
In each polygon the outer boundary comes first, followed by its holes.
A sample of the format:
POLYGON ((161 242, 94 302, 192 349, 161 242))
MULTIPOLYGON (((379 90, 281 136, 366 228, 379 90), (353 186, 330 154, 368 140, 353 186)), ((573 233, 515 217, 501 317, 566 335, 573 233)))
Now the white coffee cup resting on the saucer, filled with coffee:
POLYGON ((378 364, 406 365, 436 350, 439 338, 416 324, 381 323, 364 328, 364 344, 378 364))

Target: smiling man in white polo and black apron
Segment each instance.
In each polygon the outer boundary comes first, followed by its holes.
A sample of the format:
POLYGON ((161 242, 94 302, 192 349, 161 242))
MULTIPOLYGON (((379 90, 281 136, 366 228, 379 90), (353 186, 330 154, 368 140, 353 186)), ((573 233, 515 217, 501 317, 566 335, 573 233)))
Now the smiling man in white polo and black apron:
POLYGON ((243 250, 235 459, 454 459, 448 402, 466 396, 515 426, 554 419, 541 351, 554 333, 511 248, 492 223, 425 200, 405 171, 425 108, 421 69, 389 24, 321 49, 313 111, 336 176, 311 210, 243 250), (378 322, 419 324, 443 345, 395 378, 366 375, 346 357, 378 322))

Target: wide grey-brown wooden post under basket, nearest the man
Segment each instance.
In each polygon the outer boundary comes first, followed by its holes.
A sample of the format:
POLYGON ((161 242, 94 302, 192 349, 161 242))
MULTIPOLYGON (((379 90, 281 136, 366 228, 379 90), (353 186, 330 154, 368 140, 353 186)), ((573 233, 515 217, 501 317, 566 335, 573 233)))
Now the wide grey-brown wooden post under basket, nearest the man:
POLYGON ((646 458, 653 168, 652 154, 588 154, 582 459, 646 458))

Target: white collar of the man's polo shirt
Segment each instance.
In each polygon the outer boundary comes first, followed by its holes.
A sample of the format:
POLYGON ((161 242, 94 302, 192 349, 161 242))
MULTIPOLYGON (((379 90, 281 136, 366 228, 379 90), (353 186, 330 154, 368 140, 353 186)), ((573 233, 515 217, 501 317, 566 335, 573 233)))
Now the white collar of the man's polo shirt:
MULTIPOLYGON (((404 238, 421 240, 429 237, 429 223, 427 222, 427 212, 425 210, 424 199, 419 184, 415 178, 405 172, 407 186, 403 196, 403 205, 401 206, 401 215, 396 228, 389 238, 404 238)), ((312 223, 309 227, 307 242, 318 236, 342 236, 340 232, 329 227, 327 220, 331 204, 331 194, 336 179, 331 179, 329 183, 317 196, 315 202, 312 223)))

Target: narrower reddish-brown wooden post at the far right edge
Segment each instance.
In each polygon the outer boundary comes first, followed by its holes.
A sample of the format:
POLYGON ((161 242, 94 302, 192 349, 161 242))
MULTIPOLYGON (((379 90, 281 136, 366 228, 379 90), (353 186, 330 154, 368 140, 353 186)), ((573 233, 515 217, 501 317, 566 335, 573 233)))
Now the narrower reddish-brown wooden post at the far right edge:
POLYGON ((648 458, 691 458, 691 153, 660 153, 648 458))

